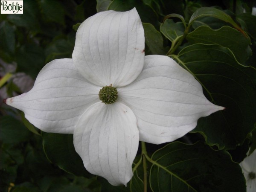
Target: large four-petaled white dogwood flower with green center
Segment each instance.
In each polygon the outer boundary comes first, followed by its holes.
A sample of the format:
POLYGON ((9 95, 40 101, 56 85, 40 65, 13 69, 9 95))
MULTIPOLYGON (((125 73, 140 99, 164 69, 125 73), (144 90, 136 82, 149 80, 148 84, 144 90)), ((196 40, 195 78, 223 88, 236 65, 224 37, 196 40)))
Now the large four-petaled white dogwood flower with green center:
POLYGON ((171 142, 223 109, 174 60, 145 56, 144 44, 135 8, 99 12, 79 26, 72 59, 50 62, 32 90, 5 102, 42 131, 74 134, 90 173, 127 185, 139 140, 171 142))

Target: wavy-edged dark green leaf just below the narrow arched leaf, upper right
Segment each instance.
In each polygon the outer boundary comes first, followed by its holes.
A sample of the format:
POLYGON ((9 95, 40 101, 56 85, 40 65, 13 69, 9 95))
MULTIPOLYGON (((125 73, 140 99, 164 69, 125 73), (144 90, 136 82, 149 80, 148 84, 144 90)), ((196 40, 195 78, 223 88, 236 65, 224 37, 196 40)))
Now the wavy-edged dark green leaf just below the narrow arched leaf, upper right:
POLYGON ((223 26, 217 30, 213 30, 208 26, 200 26, 190 32, 186 39, 190 44, 219 44, 222 47, 227 47, 241 64, 244 64, 249 56, 252 55, 252 50, 249 46, 250 39, 229 26, 223 26))

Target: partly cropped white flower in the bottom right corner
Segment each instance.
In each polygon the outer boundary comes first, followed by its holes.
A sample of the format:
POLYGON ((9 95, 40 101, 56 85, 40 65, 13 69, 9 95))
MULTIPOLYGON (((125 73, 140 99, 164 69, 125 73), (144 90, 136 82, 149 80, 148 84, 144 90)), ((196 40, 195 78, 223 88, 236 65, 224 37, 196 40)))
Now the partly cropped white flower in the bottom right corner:
POLYGON ((247 192, 256 192, 256 150, 245 157, 240 166, 246 180, 247 192))

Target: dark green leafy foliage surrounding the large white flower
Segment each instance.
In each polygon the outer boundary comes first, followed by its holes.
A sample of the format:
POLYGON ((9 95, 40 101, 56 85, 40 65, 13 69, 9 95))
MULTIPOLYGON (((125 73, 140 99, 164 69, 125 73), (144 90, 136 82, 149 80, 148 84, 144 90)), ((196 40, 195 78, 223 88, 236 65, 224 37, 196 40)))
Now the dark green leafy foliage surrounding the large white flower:
MULTIPOLYGON (((1 192, 246 190, 237 163, 249 148, 249 153, 256 148, 256 16, 251 15, 250 1, 23 0, 23 4, 23 15, 0 15, 1 75, 3 63, 17 64, 14 73, 35 79, 48 62, 72 58, 76 30, 85 19, 97 11, 136 7, 145 31, 145 55, 174 58, 202 84, 211 102, 226 109, 199 119, 192 133, 178 142, 147 144, 147 154, 139 149, 134 177, 127 187, 116 187, 84 169, 73 135, 40 134, 25 119, 23 124, 20 112, 0 105, 1 192)), ((6 88, 9 96, 20 93, 12 81, 0 88, 6 88)))

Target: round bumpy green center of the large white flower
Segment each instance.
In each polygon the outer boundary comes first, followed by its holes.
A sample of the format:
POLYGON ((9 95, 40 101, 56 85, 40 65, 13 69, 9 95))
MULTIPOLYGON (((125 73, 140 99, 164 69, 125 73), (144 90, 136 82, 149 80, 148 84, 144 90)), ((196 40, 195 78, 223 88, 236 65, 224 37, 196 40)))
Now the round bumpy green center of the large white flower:
POLYGON ((115 102, 117 97, 117 89, 116 87, 112 87, 112 84, 110 86, 102 87, 102 89, 99 90, 99 99, 105 104, 115 102))

